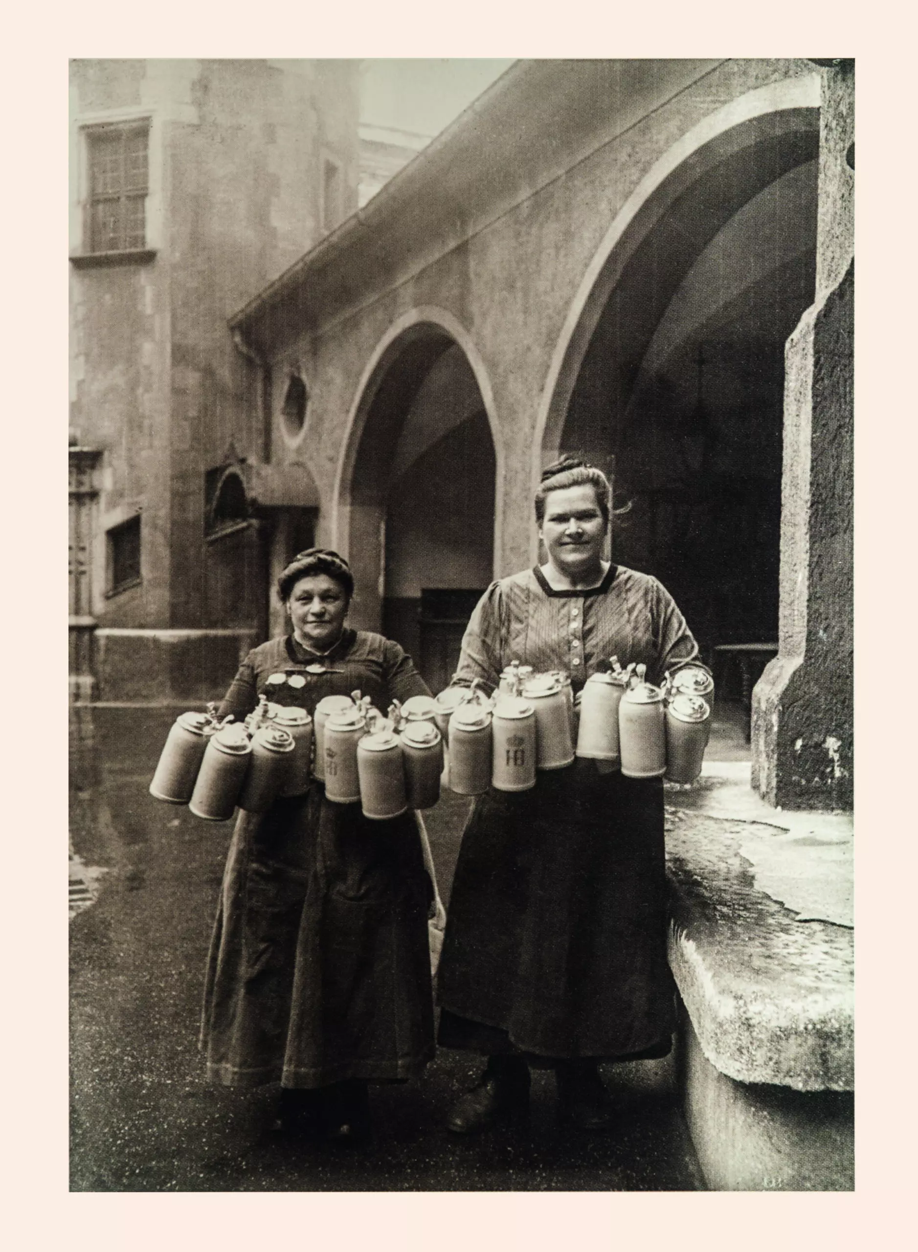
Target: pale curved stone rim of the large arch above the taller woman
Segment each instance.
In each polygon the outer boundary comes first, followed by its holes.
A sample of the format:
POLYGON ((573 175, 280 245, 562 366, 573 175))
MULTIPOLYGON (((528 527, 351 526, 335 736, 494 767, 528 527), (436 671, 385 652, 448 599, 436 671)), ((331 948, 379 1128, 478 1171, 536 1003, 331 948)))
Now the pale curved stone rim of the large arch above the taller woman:
MULTIPOLYGON (((731 100, 673 144, 627 197, 581 279, 552 352, 532 442, 534 490, 545 461, 560 449, 571 396, 600 317, 641 245, 676 202, 716 165, 731 162, 746 177, 746 187, 738 184, 739 204, 774 179, 775 172, 783 172, 781 160, 790 168, 812 159, 818 145, 820 90, 819 74, 807 74, 731 100), (795 135, 804 136, 797 151, 795 135), (744 153, 755 145, 766 150, 769 159, 744 162, 744 153)), ((535 533, 531 548, 535 558, 535 533)))

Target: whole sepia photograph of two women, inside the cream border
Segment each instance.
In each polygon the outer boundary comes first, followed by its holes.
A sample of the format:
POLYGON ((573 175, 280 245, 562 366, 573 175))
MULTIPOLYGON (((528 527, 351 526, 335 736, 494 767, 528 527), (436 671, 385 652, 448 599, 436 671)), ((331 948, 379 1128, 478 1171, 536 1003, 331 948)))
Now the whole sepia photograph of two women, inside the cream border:
POLYGON ((854 59, 68 128, 70 1191, 853 1192, 854 59))

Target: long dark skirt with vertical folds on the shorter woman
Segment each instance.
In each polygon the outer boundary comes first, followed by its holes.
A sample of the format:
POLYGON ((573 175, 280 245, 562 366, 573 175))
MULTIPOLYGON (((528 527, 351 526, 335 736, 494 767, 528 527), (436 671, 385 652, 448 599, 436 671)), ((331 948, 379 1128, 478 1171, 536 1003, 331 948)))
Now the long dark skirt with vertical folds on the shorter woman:
POLYGON ((239 814, 200 1047, 229 1085, 395 1082, 433 1054, 431 884, 412 815, 369 821, 314 784, 239 814))

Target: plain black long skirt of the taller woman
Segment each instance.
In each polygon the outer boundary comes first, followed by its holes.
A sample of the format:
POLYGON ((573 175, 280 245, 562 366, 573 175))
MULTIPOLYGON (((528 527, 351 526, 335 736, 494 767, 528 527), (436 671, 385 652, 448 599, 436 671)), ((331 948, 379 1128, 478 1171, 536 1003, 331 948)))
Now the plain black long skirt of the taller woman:
POLYGON ((440 1042, 542 1057, 663 1055, 663 782, 577 760, 481 796, 465 831, 437 974, 440 1042))

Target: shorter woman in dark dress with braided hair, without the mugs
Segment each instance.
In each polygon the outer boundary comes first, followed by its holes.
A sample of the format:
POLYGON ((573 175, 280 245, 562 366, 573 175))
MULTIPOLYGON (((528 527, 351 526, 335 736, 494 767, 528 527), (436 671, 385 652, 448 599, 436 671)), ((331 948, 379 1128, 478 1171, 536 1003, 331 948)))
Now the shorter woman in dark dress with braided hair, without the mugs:
MULTIPOLYGON (((278 580, 291 634, 243 661, 220 715, 250 712, 272 674, 299 675, 309 715, 359 689, 377 709, 428 695, 402 649, 344 625, 347 561, 301 552, 278 580)), ((431 883, 411 814, 369 821, 322 782, 240 813, 204 994, 212 1079, 282 1083, 281 1126, 333 1139, 368 1129, 367 1083, 417 1074, 433 1052, 431 883)))

